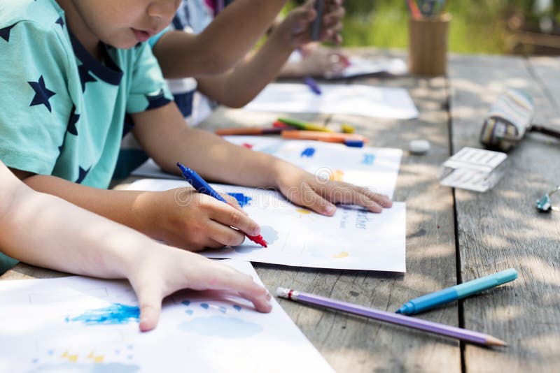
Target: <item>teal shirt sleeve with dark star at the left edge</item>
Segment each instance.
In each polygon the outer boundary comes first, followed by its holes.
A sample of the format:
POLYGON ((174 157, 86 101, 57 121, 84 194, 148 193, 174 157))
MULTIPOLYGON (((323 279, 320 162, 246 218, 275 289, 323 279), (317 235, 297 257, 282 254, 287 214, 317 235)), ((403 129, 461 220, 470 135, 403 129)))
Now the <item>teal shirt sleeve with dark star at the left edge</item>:
POLYGON ((55 166, 73 106, 69 57, 55 27, 22 21, 0 38, 0 159, 44 175, 55 166))

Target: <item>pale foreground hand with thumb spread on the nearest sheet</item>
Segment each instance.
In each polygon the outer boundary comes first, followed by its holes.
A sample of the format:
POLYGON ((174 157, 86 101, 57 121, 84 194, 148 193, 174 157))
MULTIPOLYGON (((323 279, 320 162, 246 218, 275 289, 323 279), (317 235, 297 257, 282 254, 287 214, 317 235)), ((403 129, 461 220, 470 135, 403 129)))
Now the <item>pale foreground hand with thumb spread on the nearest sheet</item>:
POLYGON ((218 261, 156 242, 132 255, 135 260, 130 262, 127 278, 138 296, 142 331, 158 324, 162 299, 183 288, 228 291, 250 300, 259 312, 272 309, 265 288, 218 261))

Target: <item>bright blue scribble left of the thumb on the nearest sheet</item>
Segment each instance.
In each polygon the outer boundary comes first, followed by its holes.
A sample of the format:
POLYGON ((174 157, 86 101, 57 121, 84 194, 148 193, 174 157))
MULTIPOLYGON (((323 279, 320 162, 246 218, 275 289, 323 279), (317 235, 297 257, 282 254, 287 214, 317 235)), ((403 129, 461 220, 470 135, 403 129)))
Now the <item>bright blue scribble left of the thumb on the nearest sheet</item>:
POLYGON ((91 309, 80 316, 66 317, 66 322, 78 321, 85 325, 114 325, 139 322, 139 317, 139 307, 113 303, 109 307, 91 309))

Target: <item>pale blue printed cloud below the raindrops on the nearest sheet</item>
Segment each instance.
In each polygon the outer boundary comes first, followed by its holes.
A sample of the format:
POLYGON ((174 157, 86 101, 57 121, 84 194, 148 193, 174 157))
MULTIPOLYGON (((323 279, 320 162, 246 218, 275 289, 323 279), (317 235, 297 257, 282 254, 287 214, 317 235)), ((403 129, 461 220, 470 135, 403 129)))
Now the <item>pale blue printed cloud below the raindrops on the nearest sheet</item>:
POLYGON ((185 321, 179 324, 179 329, 185 332, 195 332, 199 335, 223 338, 251 337, 262 332, 262 326, 256 323, 220 315, 197 317, 185 321))

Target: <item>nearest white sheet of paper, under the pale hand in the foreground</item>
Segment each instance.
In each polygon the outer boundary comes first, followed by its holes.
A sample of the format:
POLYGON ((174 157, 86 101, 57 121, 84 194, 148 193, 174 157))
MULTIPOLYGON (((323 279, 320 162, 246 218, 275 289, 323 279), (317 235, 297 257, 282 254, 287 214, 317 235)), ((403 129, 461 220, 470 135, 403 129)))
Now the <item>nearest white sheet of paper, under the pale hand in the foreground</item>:
MULTIPOLYGON (((224 263, 260 281, 251 263, 224 263)), ((0 281, 0 303, 2 372, 333 372, 274 299, 261 314, 232 295, 181 291, 146 333, 125 281, 0 281)))

